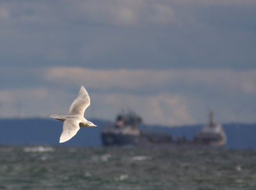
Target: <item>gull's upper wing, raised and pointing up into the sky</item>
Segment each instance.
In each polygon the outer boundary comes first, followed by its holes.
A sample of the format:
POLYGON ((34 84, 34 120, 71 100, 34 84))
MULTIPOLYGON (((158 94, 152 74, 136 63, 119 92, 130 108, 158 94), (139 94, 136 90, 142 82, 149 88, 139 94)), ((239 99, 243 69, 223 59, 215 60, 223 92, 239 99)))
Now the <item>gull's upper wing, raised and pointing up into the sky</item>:
POLYGON ((69 113, 84 115, 84 111, 88 106, 90 106, 90 97, 82 85, 80 91, 78 92, 77 98, 73 101, 69 108, 69 113))

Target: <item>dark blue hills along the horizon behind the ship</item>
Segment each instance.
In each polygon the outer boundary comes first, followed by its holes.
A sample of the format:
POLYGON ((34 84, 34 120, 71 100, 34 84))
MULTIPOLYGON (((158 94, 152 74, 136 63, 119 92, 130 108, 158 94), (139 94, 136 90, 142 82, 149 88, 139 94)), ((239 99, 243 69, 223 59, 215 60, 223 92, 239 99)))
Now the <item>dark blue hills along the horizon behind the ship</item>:
MULTIPOLYGON (((62 131, 62 122, 54 119, 0 119, 0 144, 15 145, 72 145, 72 146, 100 146, 100 130, 109 123, 99 119, 92 119, 99 128, 81 128, 77 135, 65 143, 59 143, 62 131)), ((143 131, 168 133, 185 136, 193 139, 201 125, 163 127, 141 126, 143 131)), ((256 124, 223 124, 227 135, 227 148, 230 149, 256 149, 256 124)))

